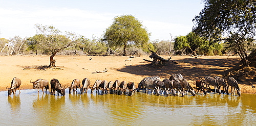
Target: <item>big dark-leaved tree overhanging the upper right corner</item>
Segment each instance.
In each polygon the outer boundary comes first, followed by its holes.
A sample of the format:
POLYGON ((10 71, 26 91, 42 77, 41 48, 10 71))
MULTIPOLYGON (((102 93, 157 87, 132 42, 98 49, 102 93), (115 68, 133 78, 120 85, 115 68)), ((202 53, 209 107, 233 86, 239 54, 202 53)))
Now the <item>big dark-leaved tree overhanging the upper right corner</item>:
POLYGON ((203 0, 205 7, 193 21, 193 31, 199 35, 228 43, 237 52, 244 66, 249 66, 248 53, 256 32, 256 2, 254 0, 203 0), (228 36, 222 38, 222 36, 228 36))

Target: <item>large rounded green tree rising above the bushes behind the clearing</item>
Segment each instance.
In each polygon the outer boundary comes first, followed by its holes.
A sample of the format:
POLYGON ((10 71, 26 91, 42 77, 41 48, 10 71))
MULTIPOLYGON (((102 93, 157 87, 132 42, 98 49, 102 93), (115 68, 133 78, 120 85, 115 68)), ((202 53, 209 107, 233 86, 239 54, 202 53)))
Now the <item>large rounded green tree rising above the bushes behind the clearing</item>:
POLYGON ((141 21, 132 15, 122 15, 114 18, 113 24, 104 33, 103 41, 110 47, 123 46, 123 56, 125 56, 127 46, 143 46, 148 42, 149 36, 141 21))

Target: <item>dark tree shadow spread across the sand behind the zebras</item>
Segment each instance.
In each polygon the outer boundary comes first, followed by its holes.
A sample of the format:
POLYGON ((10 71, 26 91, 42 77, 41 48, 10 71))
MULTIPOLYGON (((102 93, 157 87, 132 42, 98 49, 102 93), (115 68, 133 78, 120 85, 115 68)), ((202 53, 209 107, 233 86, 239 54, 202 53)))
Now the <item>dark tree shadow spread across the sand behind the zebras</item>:
MULTIPOLYGON (((186 79, 200 79, 207 75, 223 75, 228 68, 236 66, 238 59, 194 59, 186 58, 182 60, 173 60, 167 63, 151 66, 129 65, 121 69, 121 72, 127 72, 135 75, 157 75, 162 78, 169 78, 172 73, 182 73, 186 79)), ((147 62, 141 62, 147 63, 147 62)))

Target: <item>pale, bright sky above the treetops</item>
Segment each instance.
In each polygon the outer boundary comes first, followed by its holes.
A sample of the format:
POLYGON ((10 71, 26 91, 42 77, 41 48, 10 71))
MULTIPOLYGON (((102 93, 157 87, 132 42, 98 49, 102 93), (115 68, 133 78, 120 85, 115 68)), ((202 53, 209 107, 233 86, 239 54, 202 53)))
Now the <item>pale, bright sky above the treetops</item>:
POLYGON ((131 14, 151 33, 151 41, 170 40, 170 34, 175 37, 191 32, 192 19, 203 7, 202 0, 0 0, 0 38, 32 37, 36 34, 35 24, 89 39, 92 35, 101 37, 115 16, 131 14))

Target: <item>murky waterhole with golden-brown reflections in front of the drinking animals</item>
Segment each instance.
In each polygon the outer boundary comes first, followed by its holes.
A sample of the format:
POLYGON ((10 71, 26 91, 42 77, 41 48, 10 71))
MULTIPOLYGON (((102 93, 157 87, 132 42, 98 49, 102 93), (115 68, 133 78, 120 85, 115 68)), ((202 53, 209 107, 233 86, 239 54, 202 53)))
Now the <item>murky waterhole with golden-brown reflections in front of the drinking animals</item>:
MULTIPOLYGON (((79 91, 79 90, 78 90, 79 91)), ((90 92, 90 91, 89 91, 90 92)), ((0 125, 256 125, 256 95, 0 92, 0 125)))

